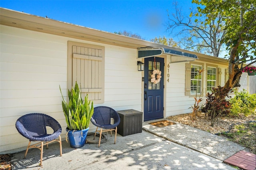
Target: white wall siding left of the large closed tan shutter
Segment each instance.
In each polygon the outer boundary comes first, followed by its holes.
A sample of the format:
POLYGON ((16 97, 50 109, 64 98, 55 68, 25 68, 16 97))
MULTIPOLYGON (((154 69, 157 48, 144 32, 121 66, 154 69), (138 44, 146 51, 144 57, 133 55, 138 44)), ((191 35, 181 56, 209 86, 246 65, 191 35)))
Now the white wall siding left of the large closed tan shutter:
POLYGON ((0 152, 26 146, 16 120, 42 112, 64 124, 58 86, 67 88, 65 38, 1 26, 0 152))

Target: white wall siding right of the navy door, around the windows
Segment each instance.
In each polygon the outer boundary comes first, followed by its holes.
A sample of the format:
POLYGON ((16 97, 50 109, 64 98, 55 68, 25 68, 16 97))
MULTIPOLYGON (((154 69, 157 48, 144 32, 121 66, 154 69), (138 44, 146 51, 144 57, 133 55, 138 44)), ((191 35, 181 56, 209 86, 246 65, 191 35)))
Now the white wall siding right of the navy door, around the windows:
MULTIPOLYGON (((198 56, 198 58, 200 58, 200 56, 198 56)), ((170 57, 167 57, 167 63, 165 65, 168 65, 169 61, 170 61, 170 57)), ((201 61, 196 60, 196 62, 201 62, 201 61)), ((169 77, 169 82, 166 82, 166 117, 192 112, 192 109, 190 107, 194 105, 195 100, 193 97, 185 96, 185 65, 186 63, 188 62, 179 62, 179 63, 169 64, 170 77, 169 77)), ((201 62, 201 63, 203 64, 203 68, 206 68, 206 64, 214 64, 214 63, 206 63, 206 62, 201 62)), ((227 66, 220 65, 220 64, 214 64, 214 65, 218 65, 218 68, 222 69, 220 85, 224 86, 225 69, 227 68, 227 66)), ((202 95, 202 98, 205 99, 206 71, 204 71, 203 74, 204 74, 203 76, 204 77, 204 80, 203 80, 204 93, 202 95)), ((200 104, 204 104, 204 102, 205 100, 203 100, 200 104)))

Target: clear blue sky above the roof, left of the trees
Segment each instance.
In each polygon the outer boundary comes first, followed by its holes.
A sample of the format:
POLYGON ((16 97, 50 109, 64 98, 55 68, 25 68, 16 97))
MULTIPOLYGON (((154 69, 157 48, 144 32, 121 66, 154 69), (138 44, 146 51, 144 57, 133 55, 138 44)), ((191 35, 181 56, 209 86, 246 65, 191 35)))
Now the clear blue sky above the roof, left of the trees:
MULTIPOLYGON (((192 0, 177 0, 186 13, 192 0)), ((167 10, 174 12, 173 0, 0 0, 8 8, 107 32, 128 31, 145 40, 166 36, 167 10)), ((177 38, 174 38, 177 40, 177 38)))

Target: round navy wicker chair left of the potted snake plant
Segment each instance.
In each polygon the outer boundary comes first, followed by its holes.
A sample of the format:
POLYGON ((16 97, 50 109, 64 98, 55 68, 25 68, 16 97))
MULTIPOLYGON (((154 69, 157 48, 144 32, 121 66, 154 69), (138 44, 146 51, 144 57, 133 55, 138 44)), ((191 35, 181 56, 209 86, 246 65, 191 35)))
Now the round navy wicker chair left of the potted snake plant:
POLYGON ((60 138, 61 126, 57 120, 51 116, 42 113, 25 114, 16 121, 16 129, 22 136, 29 139, 24 158, 26 158, 29 148, 38 148, 41 150, 40 165, 42 166, 43 147, 46 145, 48 149, 48 144, 54 141, 60 143, 60 156, 62 156, 62 144, 60 138), (46 126, 51 127, 54 132, 52 134, 48 134, 46 126), (59 140, 57 140, 58 137, 59 140), (41 142, 30 145, 31 141, 41 142))

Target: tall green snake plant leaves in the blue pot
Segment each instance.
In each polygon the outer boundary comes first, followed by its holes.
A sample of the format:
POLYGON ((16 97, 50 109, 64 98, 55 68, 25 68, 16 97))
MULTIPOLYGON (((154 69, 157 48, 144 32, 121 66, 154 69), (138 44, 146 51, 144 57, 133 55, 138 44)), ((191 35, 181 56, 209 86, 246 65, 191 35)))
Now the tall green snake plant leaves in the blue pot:
POLYGON ((69 103, 62 96, 62 109, 66 118, 66 123, 69 130, 83 130, 89 127, 92 114, 94 112, 93 102, 88 100, 88 94, 81 97, 81 92, 76 83, 75 88, 68 90, 69 103))

